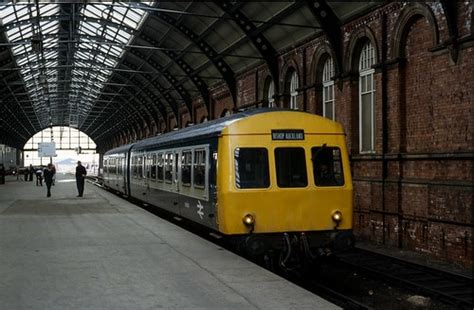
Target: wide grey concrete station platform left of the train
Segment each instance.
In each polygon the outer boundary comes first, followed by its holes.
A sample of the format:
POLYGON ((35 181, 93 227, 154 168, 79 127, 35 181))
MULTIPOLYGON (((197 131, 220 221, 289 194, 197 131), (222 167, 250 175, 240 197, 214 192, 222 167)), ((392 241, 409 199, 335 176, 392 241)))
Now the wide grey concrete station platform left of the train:
POLYGON ((0 309, 338 309, 72 175, 0 185, 0 309))

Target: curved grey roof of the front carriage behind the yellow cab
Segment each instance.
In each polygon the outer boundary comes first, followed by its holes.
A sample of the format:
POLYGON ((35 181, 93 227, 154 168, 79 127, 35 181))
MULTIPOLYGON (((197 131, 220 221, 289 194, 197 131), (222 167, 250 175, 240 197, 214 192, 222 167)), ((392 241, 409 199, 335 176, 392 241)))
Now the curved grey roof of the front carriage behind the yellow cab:
POLYGON ((288 111, 284 109, 275 109, 275 108, 263 108, 263 109, 254 109, 245 112, 239 112, 232 114, 230 116, 221 117, 214 119, 205 123, 193 125, 191 127, 186 127, 176 131, 171 131, 165 134, 160 134, 155 137, 147 138, 145 140, 138 141, 134 146, 134 150, 146 149, 149 146, 162 146, 167 144, 180 143, 190 140, 196 140, 197 138, 212 138, 217 137, 222 130, 229 126, 231 123, 238 121, 242 118, 246 118, 252 115, 261 114, 261 113, 272 113, 272 112, 281 112, 288 111))

